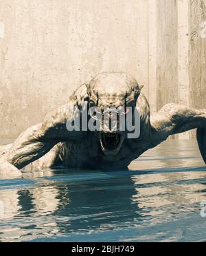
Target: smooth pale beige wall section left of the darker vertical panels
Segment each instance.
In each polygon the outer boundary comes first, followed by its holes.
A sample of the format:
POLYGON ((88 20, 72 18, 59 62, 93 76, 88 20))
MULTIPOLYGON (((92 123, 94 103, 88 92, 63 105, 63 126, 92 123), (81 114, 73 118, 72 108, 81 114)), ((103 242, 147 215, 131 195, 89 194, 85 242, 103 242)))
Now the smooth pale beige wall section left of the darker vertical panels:
POLYGON ((148 25, 155 0, 0 0, 0 6, 0 138, 41 121, 99 72, 133 74, 156 108, 149 90, 156 81, 149 45, 155 30, 148 25))

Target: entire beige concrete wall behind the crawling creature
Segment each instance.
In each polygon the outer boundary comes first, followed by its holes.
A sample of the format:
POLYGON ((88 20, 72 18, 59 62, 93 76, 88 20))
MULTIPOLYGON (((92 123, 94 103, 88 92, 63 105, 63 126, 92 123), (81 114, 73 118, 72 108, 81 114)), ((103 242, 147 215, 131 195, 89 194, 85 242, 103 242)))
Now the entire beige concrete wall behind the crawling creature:
POLYGON ((205 108, 206 0, 0 6, 0 139, 40 122, 72 89, 105 71, 133 74, 152 110, 167 103, 205 108))

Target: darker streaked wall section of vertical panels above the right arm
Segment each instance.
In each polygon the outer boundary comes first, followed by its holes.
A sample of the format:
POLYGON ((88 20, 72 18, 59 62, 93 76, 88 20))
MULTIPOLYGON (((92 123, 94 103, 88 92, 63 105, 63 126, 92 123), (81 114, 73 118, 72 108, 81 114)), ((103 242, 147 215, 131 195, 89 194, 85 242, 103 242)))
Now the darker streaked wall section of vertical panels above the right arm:
POLYGON ((206 109, 206 0, 157 0, 157 17, 157 108, 206 109))

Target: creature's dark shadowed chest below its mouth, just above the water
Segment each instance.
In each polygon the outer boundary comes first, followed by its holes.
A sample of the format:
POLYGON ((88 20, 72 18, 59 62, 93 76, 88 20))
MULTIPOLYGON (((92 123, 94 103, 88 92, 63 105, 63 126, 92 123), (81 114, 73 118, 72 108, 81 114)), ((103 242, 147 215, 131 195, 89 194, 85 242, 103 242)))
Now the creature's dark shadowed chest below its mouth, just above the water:
POLYGON ((63 143, 60 155, 62 163, 67 167, 107 169, 126 168, 141 153, 141 149, 134 149, 128 143, 124 143, 117 156, 105 156, 99 140, 88 137, 75 144, 63 143))

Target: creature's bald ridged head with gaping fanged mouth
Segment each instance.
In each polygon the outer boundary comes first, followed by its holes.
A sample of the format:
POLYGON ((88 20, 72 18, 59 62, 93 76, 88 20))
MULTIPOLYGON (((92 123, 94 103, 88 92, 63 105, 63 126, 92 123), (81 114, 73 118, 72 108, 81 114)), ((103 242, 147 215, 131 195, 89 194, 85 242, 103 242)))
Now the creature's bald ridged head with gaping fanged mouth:
POLYGON ((126 131, 119 129, 119 116, 126 116, 128 109, 136 107, 142 87, 139 87, 133 76, 123 72, 98 74, 87 86, 89 107, 96 107, 104 120, 100 132, 100 144, 105 155, 114 156, 121 149, 126 131), (115 110, 111 111, 111 109, 115 110))

